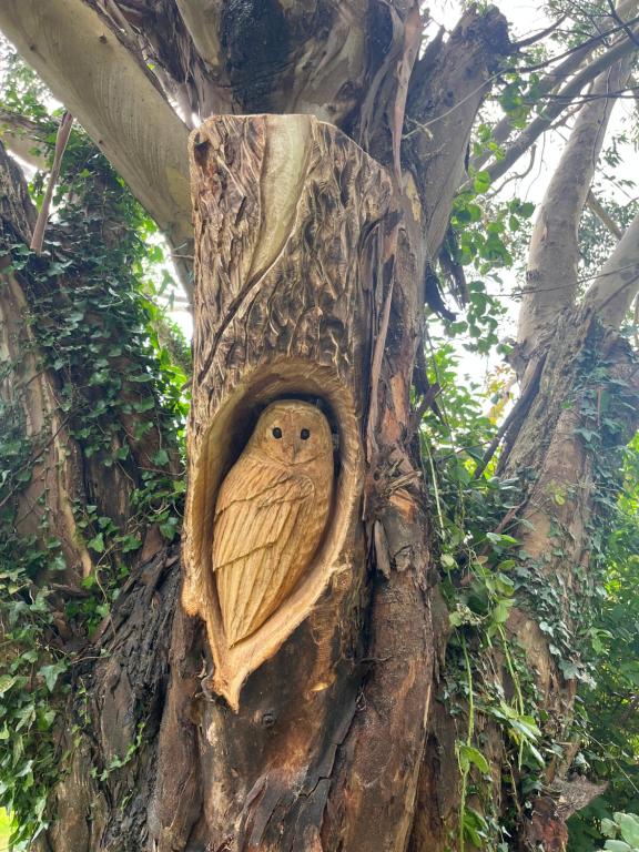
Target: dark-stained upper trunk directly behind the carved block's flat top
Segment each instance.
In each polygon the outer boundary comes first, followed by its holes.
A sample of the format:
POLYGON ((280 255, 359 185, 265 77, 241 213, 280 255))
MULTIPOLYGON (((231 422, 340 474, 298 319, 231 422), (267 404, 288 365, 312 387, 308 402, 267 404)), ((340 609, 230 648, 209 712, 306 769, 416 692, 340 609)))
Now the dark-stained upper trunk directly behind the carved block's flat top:
POLYGON ((367 61, 384 59, 368 51, 381 41, 369 0, 275 0, 267 11, 247 0, 241 12, 220 0, 176 6, 206 63, 215 112, 304 112, 342 126, 368 91, 367 61))

